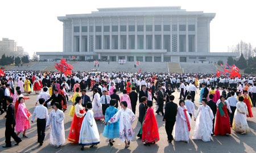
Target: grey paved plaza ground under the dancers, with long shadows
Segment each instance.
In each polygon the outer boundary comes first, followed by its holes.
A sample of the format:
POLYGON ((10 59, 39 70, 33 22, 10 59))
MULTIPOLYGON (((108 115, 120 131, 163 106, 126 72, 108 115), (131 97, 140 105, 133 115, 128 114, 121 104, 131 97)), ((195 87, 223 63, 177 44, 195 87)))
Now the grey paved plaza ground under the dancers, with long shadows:
MULTIPOLYGON (((199 90, 197 90, 199 92, 199 90)), ((175 95, 175 103, 179 101, 180 92, 174 92, 175 95)), ((88 92, 88 95, 92 97, 92 92, 88 92)), ((119 94, 121 95, 121 94, 119 94)), ((35 107, 35 99, 38 95, 31 94, 30 100, 26 100, 26 106, 28 110, 32 113, 35 107)), ((198 103, 199 94, 196 95, 196 109, 199 107, 198 103)), ((119 106, 120 107, 120 106, 119 106)), ((154 105, 154 107, 156 107, 154 105)), ((68 103, 68 110, 64 113, 64 126, 65 126, 65 138, 68 137, 69 129, 72 122, 72 117, 68 116, 69 109, 71 108, 71 102, 68 103)), ((50 112, 52 109, 49 108, 50 112)), ((137 135, 140 124, 138 122, 138 104, 137 104, 137 112, 135 114, 136 120, 133 123, 133 128, 135 131, 135 136, 137 135)), ((253 114, 256 116, 256 108, 253 108, 253 114)), ((189 143, 184 142, 175 142, 168 143, 167 134, 164 129, 163 117, 160 115, 156 115, 156 119, 158 121, 159 127, 159 135, 160 141, 155 145, 144 146, 141 139, 138 137, 134 137, 133 141, 131 141, 130 147, 125 149, 124 142, 119 141, 119 139, 115 139, 114 146, 110 146, 107 138, 102 136, 102 131, 104 129, 104 124, 102 121, 96 121, 98 126, 98 131, 100 133, 101 142, 97 145, 97 147, 89 148, 85 147, 84 151, 81 151, 81 146, 77 144, 73 144, 66 139, 66 145, 61 146, 60 148, 55 148, 49 145, 49 128, 46 129, 46 138, 44 140, 43 146, 39 146, 37 143, 37 132, 36 132, 36 123, 31 124, 31 129, 27 131, 27 136, 29 138, 22 138, 22 142, 19 143, 18 146, 13 146, 11 148, 2 148, 5 145, 5 119, 3 119, 5 114, 2 114, 0 120, 0 151, 1 152, 104 152, 104 153, 115 153, 115 152, 256 152, 256 119, 248 118, 248 124, 250 127, 250 132, 241 135, 232 130, 232 134, 229 137, 226 136, 213 136, 211 142, 203 142, 201 140, 192 140, 189 139, 189 143)), ((193 121, 192 117, 192 126, 190 138, 192 138, 193 128, 195 125, 195 121, 193 121)), ((20 134, 19 136, 22 136, 20 134)), ((15 142, 12 139, 12 143, 15 142)))

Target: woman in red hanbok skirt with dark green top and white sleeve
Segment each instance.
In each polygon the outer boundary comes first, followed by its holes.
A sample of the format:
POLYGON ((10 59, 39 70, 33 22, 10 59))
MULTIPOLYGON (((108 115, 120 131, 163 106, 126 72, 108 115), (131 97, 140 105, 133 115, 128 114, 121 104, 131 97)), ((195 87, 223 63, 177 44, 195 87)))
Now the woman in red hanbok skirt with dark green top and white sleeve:
POLYGON ((229 124, 229 112, 231 112, 229 103, 225 101, 225 96, 220 96, 220 103, 217 104, 217 115, 216 115, 216 125, 214 129, 214 135, 228 135, 231 134, 230 124, 229 124))

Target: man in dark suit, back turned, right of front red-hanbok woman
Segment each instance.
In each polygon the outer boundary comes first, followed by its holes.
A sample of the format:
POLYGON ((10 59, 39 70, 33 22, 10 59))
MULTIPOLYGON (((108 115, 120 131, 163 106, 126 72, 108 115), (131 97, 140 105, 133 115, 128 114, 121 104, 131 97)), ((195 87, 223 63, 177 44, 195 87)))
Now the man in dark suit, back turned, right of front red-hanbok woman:
POLYGON ((174 95, 169 96, 170 102, 166 103, 166 108, 164 112, 163 121, 166 122, 166 133, 168 141, 171 143, 174 140, 172 137, 172 130, 174 129, 174 124, 176 121, 176 114, 177 114, 177 104, 174 103, 174 95))

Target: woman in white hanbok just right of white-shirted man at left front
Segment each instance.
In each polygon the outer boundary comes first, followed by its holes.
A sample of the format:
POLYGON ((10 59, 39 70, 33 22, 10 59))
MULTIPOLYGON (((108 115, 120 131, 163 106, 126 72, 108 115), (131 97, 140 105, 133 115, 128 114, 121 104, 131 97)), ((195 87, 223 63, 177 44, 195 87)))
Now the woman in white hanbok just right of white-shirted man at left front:
POLYGON ((49 113, 46 126, 50 126, 50 145, 60 146, 65 144, 64 113, 59 109, 59 103, 53 104, 53 110, 49 113))

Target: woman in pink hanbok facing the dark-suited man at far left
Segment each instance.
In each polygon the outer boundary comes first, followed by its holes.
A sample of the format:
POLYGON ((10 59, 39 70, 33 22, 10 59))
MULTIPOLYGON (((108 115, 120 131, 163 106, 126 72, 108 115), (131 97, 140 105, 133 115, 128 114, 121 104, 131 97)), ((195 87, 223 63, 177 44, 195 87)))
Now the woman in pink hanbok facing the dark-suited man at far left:
POLYGON ((23 138, 28 138, 26 135, 26 130, 30 129, 30 121, 29 118, 31 116, 31 113, 28 112, 25 100, 23 97, 19 97, 18 103, 18 110, 16 114, 16 125, 15 125, 15 131, 17 132, 17 135, 19 135, 20 132, 23 131, 23 138))

